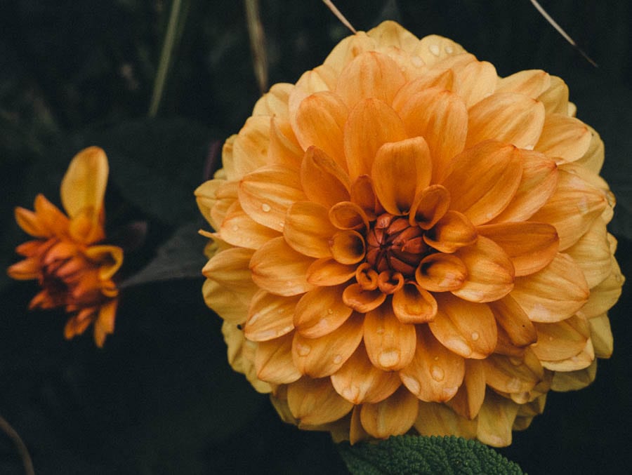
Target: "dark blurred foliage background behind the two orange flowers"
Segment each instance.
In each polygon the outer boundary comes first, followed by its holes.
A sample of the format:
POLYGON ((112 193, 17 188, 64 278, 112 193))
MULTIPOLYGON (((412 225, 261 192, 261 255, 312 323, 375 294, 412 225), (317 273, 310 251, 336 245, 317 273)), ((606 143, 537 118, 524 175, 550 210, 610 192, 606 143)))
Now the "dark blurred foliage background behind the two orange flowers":
MULTIPOLYGON (((501 76, 544 69, 565 79, 577 116, 605 141, 603 175, 618 199, 610 230, 632 276, 628 1, 541 1, 598 68, 528 0, 336 4, 357 29, 393 19, 417 36, 449 36, 501 76)), ((26 240, 13 207, 32 208, 38 192, 59 203, 67 164, 88 145, 110 159, 107 232, 128 248, 123 279, 154 262, 121 291, 103 349, 90 330, 64 340, 65 314, 27 312, 36 284, 0 272, 0 415, 39 474, 343 474, 327 434, 283 424, 267 397, 230 370, 220 320, 202 301, 206 239, 195 230, 206 225, 192 192, 218 167, 218 146, 260 92, 244 2, 183 0, 164 95, 150 117, 171 5, 0 2, 0 267, 18 260, 14 248, 26 240)), ((320 0, 261 0, 260 13, 270 84, 296 81, 349 34, 320 0)), ((550 393, 544 415, 500 450, 525 471, 616 474, 632 464, 628 290, 610 312, 614 355, 600 361, 597 380, 550 393)), ((23 473, 2 432, 0 473, 23 473)))

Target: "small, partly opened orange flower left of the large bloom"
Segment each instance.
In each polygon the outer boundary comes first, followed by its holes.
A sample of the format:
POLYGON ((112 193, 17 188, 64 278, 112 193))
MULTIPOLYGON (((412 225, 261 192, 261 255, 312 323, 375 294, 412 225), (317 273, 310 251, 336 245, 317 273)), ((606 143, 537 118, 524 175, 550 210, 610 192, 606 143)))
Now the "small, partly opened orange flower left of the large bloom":
POLYGON ((35 239, 16 248, 25 259, 8 268, 13 279, 38 279, 41 291, 29 309, 64 307, 72 314, 64 330, 67 339, 94 323, 98 347, 114 331, 118 289, 112 276, 123 262, 121 248, 96 244, 105 239, 107 174, 105 152, 89 147, 72 159, 62 180, 67 215, 42 194, 35 198, 34 211, 15 208, 18 225, 35 239))

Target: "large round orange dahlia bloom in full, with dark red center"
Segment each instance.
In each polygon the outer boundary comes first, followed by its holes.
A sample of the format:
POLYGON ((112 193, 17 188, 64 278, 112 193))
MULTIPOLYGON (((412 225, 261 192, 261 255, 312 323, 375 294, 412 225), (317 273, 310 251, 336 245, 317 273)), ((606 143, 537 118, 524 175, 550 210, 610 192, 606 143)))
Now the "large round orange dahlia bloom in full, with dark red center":
POLYGON ((277 84, 197 189, 206 303, 277 411, 336 439, 511 443, 612 352, 603 142, 565 83, 394 22, 277 84))

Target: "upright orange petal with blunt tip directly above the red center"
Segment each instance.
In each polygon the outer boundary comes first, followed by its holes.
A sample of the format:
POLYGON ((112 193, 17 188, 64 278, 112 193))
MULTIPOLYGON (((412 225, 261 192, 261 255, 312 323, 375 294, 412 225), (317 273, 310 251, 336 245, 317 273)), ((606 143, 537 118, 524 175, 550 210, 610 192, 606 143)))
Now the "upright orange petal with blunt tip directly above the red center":
POLYGON ((371 168, 375 193, 393 215, 409 213, 418 192, 430 184, 432 159, 421 137, 386 143, 371 168))

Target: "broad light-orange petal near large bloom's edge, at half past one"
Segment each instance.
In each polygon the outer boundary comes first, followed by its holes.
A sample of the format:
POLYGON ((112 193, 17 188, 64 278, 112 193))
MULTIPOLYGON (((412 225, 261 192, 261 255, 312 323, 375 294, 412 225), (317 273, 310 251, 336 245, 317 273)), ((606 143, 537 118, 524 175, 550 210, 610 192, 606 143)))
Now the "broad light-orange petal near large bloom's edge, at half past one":
POLYGON ((470 107, 466 148, 498 140, 532 149, 544 126, 544 105, 527 95, 497 93, 470 107))

